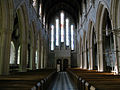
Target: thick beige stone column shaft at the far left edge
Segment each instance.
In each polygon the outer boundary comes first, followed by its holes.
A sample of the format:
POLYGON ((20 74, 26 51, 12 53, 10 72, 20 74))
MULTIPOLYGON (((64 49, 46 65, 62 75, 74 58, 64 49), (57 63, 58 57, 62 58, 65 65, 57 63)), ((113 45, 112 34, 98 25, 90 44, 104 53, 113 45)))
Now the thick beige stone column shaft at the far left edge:
POLYGON ((9 74, 11 32, 7 30, 0 33, 0 75, 9 74))

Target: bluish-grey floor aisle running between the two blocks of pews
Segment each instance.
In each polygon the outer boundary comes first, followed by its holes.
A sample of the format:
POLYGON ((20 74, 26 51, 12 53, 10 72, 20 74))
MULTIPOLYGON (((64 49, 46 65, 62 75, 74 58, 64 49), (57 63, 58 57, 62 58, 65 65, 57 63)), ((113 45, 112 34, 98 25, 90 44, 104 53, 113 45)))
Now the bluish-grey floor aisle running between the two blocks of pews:
POLYGON ((67 72, 59 72, 48 90, 78 90, 71 82, 67 72))

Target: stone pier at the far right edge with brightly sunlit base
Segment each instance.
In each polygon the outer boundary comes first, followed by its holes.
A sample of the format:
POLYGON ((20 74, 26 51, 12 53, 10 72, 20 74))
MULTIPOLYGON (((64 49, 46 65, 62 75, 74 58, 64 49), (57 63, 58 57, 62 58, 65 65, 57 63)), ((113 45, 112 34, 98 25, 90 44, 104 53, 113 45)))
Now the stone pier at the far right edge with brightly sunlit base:
POLYGON ((115 69, 116 73, 120 72, 120 38, 119 38, 119 30, 120 30, 120 1, 119 0, 111 0, 111 8, 110 8, 111 18, 112 18, 112 29, 114 30, 114 48, 115 48, 115 69))

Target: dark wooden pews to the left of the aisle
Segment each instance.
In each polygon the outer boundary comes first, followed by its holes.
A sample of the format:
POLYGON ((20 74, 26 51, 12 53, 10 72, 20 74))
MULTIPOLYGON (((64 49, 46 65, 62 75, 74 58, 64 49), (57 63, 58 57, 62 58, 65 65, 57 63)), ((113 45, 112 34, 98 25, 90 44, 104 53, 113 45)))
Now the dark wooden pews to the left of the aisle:
POLYGON ((0 76, 0 90, 47 90, 56 70, 41 69, 0 76))

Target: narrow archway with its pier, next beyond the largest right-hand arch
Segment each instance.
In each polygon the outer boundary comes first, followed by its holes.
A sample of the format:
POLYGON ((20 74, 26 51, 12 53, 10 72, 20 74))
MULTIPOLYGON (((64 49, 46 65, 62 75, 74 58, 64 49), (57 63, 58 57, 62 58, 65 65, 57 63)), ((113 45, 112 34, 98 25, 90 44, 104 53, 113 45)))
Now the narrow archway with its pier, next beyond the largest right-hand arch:
POLYGON ((97 41, 96 41, 96 31, 94 28, 93 21, 89 21, 88 30, 88 56, 89 56, 89 70, 97 69, 97 41))

